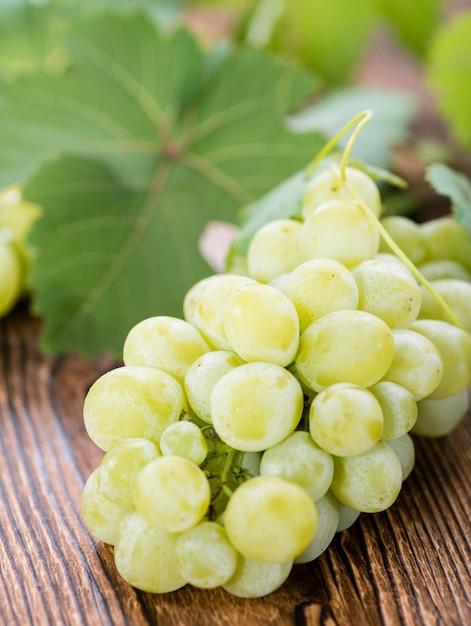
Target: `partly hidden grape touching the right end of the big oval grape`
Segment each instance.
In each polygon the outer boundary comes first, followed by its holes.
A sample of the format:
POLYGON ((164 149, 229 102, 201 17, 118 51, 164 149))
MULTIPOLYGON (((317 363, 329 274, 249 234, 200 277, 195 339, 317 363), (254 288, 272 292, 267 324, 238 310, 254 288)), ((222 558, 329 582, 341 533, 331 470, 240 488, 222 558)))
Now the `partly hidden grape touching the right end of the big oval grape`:
POLYGON ((421 400, 439 386, 444 362, 436 344, 412 328, 393 330, 394 357, 383 380, 405 387, 421 400))

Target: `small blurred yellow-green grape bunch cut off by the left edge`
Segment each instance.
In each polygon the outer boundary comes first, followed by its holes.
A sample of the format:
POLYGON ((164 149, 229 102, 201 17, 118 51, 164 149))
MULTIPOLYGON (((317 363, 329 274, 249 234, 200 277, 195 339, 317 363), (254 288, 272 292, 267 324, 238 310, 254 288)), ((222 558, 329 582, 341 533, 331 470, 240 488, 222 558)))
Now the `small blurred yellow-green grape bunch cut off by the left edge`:
POLYGON ((39 208, 26 202, 18 187, 0 192, 0 316, 28 291, 32 250, 27 237, 38 216, 39 208))

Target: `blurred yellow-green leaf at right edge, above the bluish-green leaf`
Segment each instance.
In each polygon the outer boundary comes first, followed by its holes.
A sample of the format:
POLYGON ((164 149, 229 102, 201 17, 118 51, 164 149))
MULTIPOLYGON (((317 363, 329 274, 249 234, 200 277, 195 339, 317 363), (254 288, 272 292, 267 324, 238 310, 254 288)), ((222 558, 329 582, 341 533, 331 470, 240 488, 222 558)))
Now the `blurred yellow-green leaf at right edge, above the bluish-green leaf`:
POLYGON ((431 45, 427 79, 451 131, 471 148, 471 11, 443 24, 431 45))

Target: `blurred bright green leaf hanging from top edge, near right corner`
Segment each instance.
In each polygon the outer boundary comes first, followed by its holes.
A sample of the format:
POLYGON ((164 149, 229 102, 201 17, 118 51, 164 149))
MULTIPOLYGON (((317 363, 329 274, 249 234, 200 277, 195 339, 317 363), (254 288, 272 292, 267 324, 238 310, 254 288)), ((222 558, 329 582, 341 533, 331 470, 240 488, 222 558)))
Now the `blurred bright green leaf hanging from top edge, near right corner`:
POLYGON ((379 10, 402 42, 424 55, 442 16, 444 0, 379 0, 379 10))

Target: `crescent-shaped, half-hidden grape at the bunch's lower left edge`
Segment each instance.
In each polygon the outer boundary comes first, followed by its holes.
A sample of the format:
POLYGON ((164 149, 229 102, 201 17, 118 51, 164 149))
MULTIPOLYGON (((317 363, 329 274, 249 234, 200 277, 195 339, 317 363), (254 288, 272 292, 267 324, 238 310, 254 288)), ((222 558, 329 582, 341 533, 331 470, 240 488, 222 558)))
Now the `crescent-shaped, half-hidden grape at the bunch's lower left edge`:
POLYGON ((82 517, 89 531, 100 541, 116 544, 122 520, 135 510, 109 500, 101 491, 99 471, 88 477, 82 491, 82 517))

